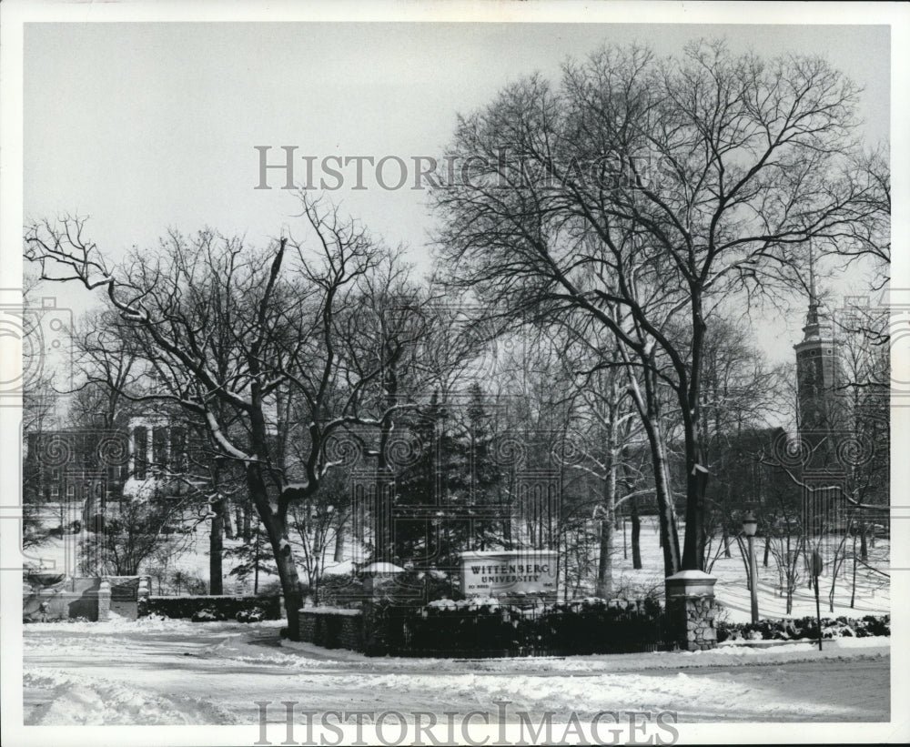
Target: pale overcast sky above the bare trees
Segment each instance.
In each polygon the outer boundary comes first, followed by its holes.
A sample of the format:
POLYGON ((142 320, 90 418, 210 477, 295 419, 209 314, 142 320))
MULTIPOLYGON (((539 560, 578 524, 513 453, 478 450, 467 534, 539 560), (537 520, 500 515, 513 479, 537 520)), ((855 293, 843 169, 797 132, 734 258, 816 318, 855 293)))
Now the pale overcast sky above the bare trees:
MULTIPOLYGON (((866 137, 887 139, 886 26, 29 24, 25 218, 90 216, 90 236, 112 256, 154 245, 167 227, 264 242, 293 227, 295 203, 254 189, 255 146, 273 146, 276 162, 278 146, 318 159, 441 156, 456 115, 520 76, 556 78, 567 56, 605 42, 672 55, 700 36, 724 36, 734 52, 826 56, 864 87, 866 137)), ((427 256, 426 192, 333 196, 389 243, 427 256)), ((86 307, 79 294, 55 293, 86 307)), ((763 346, 791 356, 801 314, 769 322, 763 346)))

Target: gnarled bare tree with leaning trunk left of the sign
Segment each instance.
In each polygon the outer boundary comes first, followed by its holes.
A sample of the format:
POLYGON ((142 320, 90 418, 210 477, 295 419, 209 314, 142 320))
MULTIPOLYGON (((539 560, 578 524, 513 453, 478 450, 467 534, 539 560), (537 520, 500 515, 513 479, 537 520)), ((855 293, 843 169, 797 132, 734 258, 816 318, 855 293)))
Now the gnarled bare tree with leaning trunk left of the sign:
POLYGON ((288 633, 298 636, 298 572, 288 509, 314 495, 339 463, 329 442, 352 423, 379 427, 388 413, 361 409, 381 376, 343 355, 349 309, 388 250, 356 222, 301 194, 306 239, 285 236, 266 249, 205 230, 170 232, 157 252, 111 265, 66 218, 28 227, 25 256, 42 277, 106 294, 128 325, 130 344, 154 373, 157 391, 124 392, 137 402, 171 402, 205 423, 218 453, 241 466, 278 566, 288 633), (342 394, 339 395, 339 391, 342 394), (307 450, 288 463, 280 447, 282 398, 293 399, 307 450))

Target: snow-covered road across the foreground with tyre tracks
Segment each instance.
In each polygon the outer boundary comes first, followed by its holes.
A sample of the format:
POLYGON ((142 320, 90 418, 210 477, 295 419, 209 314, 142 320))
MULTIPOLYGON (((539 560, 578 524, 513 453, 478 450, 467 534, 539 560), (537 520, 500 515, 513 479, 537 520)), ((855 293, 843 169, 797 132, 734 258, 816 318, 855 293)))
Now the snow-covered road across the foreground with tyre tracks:
POLYGON ((887 639, 769 650, 440 661, 281 644, 280 623, 25 627, 29 724, 258 723, 256 701, 300 709, 675 711, 680 722, 889 718, 887 639))

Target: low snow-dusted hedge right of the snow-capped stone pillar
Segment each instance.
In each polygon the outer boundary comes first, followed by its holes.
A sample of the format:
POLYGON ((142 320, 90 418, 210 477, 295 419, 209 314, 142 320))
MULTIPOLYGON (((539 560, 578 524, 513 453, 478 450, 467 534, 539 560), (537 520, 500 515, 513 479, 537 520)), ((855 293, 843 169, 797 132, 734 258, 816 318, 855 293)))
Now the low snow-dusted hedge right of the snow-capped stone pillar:
MULTIPOLYGON (((866 638, 891 635, 890 615, 866 615, 860 619, 822 618, 822 638, 866 638)), ((799 641, 818 639, 814 617, 798 620, 760 620, 758 622, 718 622, 717 641, 799 641)))

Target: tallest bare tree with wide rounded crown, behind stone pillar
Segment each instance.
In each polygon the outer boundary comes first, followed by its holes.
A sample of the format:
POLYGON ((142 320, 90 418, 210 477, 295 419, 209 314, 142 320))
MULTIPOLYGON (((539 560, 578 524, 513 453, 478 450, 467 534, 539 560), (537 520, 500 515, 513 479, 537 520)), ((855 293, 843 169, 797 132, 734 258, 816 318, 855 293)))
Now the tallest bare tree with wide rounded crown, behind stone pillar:
MULTIPOLYGON (((853 242, 878 215, 852 170, 857 97, 820 58, 733 56, 720 42, 666 60, 606 47, 566 65, 559 87, 532 76, 460 119, 452 152, 465 167, 436 193, 450 282, 526 318, 587 315, 646 383, 673 392, 686 533, 667 573, 703 568, 713 308, 799 287, 810 241, 853 242), (617 321, 627 317, 631 327, 617 321)), ((645 408, 659 399, 651 389, 645 408)))

